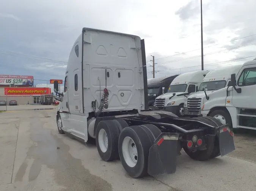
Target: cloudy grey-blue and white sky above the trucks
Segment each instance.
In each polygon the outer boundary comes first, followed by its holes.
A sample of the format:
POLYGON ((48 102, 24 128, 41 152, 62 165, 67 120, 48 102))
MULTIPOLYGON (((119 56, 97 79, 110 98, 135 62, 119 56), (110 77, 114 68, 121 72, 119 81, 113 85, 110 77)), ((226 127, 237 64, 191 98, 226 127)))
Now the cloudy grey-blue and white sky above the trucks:
MULTIPOLYGON (((205 70, 256 57, 255 7, 254 0, 203 0, 205 70)), ((155 77, 201 69, 200 0, 8 0, 0 3, 0 74, 33 75, 37 86, 64 79, 83 27, 145 39, 148 78, 151 55, 155 77)))

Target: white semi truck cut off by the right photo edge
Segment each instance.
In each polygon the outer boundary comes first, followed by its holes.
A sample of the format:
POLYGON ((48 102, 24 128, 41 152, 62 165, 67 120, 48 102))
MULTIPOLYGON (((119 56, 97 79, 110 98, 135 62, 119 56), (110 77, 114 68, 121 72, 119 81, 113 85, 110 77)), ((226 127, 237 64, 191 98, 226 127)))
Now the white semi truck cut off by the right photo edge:
POLYGON ((231 86, 204 98, 202 116, 211 116, 233 128, 256 129, 256 60, 246 62, 231 74, 231 86))

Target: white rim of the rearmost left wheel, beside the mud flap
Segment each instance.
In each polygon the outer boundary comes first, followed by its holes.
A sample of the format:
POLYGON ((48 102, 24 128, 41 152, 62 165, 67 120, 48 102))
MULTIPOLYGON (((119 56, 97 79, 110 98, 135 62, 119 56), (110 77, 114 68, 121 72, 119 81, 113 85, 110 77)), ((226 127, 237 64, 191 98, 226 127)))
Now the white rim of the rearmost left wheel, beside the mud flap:
POLYGON ((134 167, 137 164, 138 151, 132 138, 124 138, 122 143, 122 152, 126 164, 130 167, 134 167))

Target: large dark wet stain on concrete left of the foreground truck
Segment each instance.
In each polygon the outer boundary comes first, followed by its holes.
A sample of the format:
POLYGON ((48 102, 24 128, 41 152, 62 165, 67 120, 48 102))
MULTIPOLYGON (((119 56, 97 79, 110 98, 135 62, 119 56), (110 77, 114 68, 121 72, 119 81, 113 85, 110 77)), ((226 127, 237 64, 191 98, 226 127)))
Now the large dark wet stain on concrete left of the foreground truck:
MULTIPOLYGON (((112 191, 110 183, 85 169, 80 159, 71 156, 69 146, 44 129, 43 125, 44 122, 38 119, 30 123, 31 140, 37 144, 33 144, 27 152, 27 159, 34 159, 28 175, 29 181, 38 177, 42 165, 47 165, 55 170, 54 181, 65 188, 63 191, 112 191), (56 149, 57 147, 60 149, 56 149)), ((23 180, 27 166, 25 159, 17 172, 15 182, 23 180)))

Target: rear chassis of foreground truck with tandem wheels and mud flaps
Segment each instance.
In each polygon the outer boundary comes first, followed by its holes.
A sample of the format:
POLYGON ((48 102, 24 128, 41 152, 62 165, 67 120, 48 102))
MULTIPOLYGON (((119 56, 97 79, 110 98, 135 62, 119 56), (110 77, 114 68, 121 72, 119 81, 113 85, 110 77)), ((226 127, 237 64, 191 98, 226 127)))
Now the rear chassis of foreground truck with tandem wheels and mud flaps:
POLYGON ((134 177, 171 174, 181 149, 194 160, 224 156, 235 149, 234 133, 213 117, 179 119, 171 112, 98 117, 97 150, 105 161, 120 159, 134 177))

